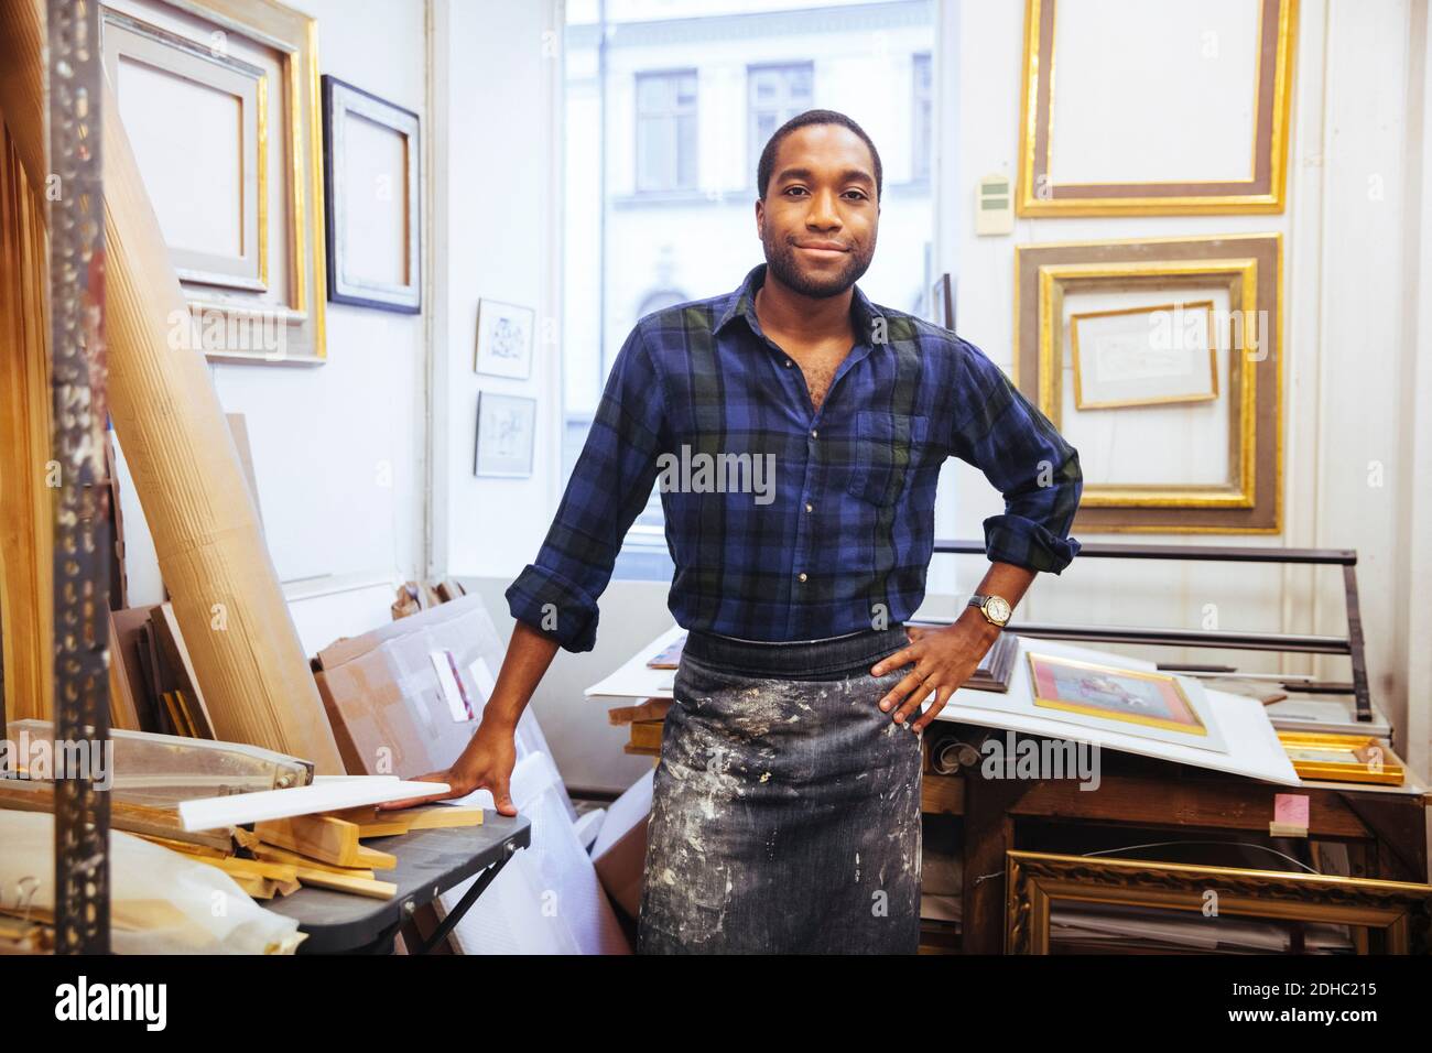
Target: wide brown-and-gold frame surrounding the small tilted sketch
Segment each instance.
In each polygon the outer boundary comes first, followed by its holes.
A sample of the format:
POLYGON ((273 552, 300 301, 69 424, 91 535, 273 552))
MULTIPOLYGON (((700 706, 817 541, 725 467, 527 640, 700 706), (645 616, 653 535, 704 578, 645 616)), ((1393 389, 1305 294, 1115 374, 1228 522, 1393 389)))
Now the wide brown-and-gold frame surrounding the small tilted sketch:
MULTIPOLYGON (((1191 304, 1216 289, 1227 297, 1227 470, 1221 481, 1088 481, 1075 529, 1158 533, 1277 533, 1282 529, 1282 309, 1279 235, 1060 242, 1015 248, 1014 380, 1063 427, 1065 295, 1123 294, 1191 304), (1186 291, 1183 299, 1170 289, 1186 291)), ((1147 309, 1141 304, 1140 309, 1147 309)), ((1214 312, 1217 315, 1217 312, 1214 312)), ((1189 407, 1197 410, 1200 404, 1189 407)), ((1201 405, 1207 405, 1203 403, 1201 405)), ((1126 414, 1095 410, 1114 427, 1126 414)), ((1083 414, 1081 414, 1083 415, 1083 414)), ((1221 446, 1223 438, 1217 440, 1221 446)), ((1080 446, 1080 441, 1074 441, 1080 446)), ((1085 474, 1097 451, 1083 451, 1085 474)), ((1213 466, 1214 468, 1217 464, 1213 466)))

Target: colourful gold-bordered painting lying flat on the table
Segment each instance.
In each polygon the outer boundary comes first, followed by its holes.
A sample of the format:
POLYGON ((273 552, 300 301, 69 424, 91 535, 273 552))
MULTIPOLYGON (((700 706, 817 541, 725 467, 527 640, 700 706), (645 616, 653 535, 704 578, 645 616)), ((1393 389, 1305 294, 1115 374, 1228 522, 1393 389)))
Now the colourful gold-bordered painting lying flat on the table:
POLYGON ((1028 653, 1034 705, 1207 736, 1177 676, 1028 653))

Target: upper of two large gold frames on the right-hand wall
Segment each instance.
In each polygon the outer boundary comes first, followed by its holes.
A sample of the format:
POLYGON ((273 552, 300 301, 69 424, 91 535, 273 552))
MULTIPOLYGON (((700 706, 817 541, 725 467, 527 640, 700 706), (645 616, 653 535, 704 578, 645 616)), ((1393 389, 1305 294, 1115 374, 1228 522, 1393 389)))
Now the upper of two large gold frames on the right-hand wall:
MULTIPOLYGON (((1127 24, 1127 11, 1121 13, 1117 9, 1110 11, 1110 17, 1117 17, 1120 21, 1111 24, 1106 34, 1100 34, 1097 26, 1091 32, 1085 24, 1061 30, 1063 23, 1057 19, 1061 6, 1058 0, 1027 0, 1025 3, 1024 77, 1020 105, 1020 186, 1015 195, 1018 215, 1110 216, 1283 211, 1290 135, 1289 103, 1297 43, 1297 0, 1257 0, 1256 16, 1246 27, 1246 39, 1230 39, 1236 37, 1237 33, 1224 34, 1207 27, 1199 33, 1190 33, 1187 26, 1177 20, 1169 20, 1166 17, 1169 11, 1160 11, 1157 19, 1150 14, 1148 21, 1130 26, 1127 24), (1090 57, 1083 57, 1078 53, 1073 57, 1065 54, 1061 63, 1055 40, 1064 42, 1065 36, 1074 30, 1078 33, 1068 47, 1094 49, 1097 54, 1091 53, 1090 57), (1144 36, 1137 37, 1137 46, 1131 46, 1127 37, 1137 33, 1144 36), (1169 39, 1158 39, 1158 33, 1167 33, 1169 39), (1118 40, 1106 39, 1118 34, 1123 34, 1118 40), (1084 37, 1093 39, 1085 40, 1084 37), (1196 62, 1200 54, 1201 62, 1196 62), (1186 67, 1177 67, 1180 70, 1197 70, 1203 64, 1206 67, 1203 74, 1210 79, 1210 85, 1226 79, 1227 67, 1233 64, 1234 57, 1243 60, 1237 69, 1250 79, 1246 90, 1252 95, 1252 106, 1249 110, 1243 110, 1240 103, 1237 115, 1226 115, 1229 132, 1223 145, 1229 149, 1239 149, 1232 143, 1244 142, 1244 139, 1233 129, 1250 128, 1252 135, 1247 138, 1250 153, 1246 158, 1230 159, 1220 169, 1229 175, 1217 178, 1211 178, 1209 172, 1203 175, 1167 172, 1161 173, 1164 178, 1130 178, 1127 182, 1078 181, 1074 173, 1070 179, 1060 179, 1058 168, 1054 166, 1053 149, 1055 140, 1054 117, 1058 109, 1055 86, 1070 92, 1073 72, 1085 64, 1098 66, 1103 77, 1108 77, 1107 63, 1116 59, 1143 63, 1137 66, 1138 73, 1150 73, 1151 70, 1146 66, 1150 62, 1157 62, 1158 56, 1183 57, 1186 63, 1191 63, 1186 67), (1077 63, 1074 70, 1064 69, 1070 62, 1077 63), (1063 77, 1060 77, 1061 69, 1063 77), (1234 178, 1232 176, 1234 169, 1246 170, 1246 175, 1234 178)), ((1080 9, 1080 14, 1087 16, 1087 9, 1080 9)), ((1167 76, 1181 79, 1174 72, 1167 76)), ((1140 80, 1148 83, 1144 77, 1140 80)), ((1075 82, 1075 87, 1078 87, 1078 82, 1075 82)), ((1190 97, 1197 96, 1194 90, 1184 90, 1190 97)), ((1180 115, 1171 107, 1146 103, 1147 100, 1138 97, 1131 103, 1134 110, 1128 115, 1101 112, 1100 119, 1130 129, 1130 136, 1138 136, 1140 119, 1170 122, 1180 119, 1180 115)), ((1073 106, 1074 103, 1067 105, 1073 106)), ((1091 105, 1078 109, 1103 110, 1107 107, 1091 105)), ((1063 123, 1061 133, 1064 132, 1063 123)), ((1156 143, 1154 155, 1171 155, 1171 152, 1157 146, 1157 139, 1153 135, 1150 139, 1156 143)), ((1108 153, 1107 145, 1103 152, 1108 153)), ((1204 160, 1209 153, 1211 150, 1194 150, 1191 156, 1194 160, 1204 160)), ((1083 146, 1070 149, 1070 142, 1065 139, 1063 153, 1058 156, 1088 159, 1100 156, 1100 150, 1094 145, 1088 145, 1087 149, 1083 146)))

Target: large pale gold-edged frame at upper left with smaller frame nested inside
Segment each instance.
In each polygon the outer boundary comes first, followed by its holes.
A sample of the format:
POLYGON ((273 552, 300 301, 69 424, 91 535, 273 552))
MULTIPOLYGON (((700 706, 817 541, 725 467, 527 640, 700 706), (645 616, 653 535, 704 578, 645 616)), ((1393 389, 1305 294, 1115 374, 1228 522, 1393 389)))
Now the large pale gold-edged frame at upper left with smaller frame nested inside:
MULTIPOLYGON (((223 252, 196 255, 170 245, 190 314, 190 325, 176 327, 172 344, 200 350, 211 361, 324 362, 328 291, 316 21, 275 0, 107 0, 102 16, 102 50, 122 109, 116 77, 122 49, 143 49, 146 64, 173 77, 176 90, 198 86, 200 99, 203 90, 239 99, 238 142, 226 149, 255 165, 252 175, 245 172, 243 188, 248 195, 252 185, 256 199, 213 206, 235 209, 243 252, 232 255, 246 261, 252 246, 256 266, 249 272, 236 259, 226 262, 223 252), (249 83, 245 102, 239 92, 249 83)), ((176 149, 173 143, 186 142, 185 112, 132 107, 126 120, 142 119, 146 128, 126 130, 132 142, 149 136, 176 149)), ((216 126, 205 125, 209 132, 216 126)), ((145 153, 136 149, 136 155, 143 175, 145 153)), ((195 179, 188 208, 206 208, 205 191, 203 179, 195 179)))

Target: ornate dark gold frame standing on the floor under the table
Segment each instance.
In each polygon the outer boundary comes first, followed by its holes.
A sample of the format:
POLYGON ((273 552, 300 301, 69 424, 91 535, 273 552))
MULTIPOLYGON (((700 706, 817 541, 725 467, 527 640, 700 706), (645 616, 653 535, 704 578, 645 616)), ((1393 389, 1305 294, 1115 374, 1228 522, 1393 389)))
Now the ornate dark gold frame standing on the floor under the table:
POLYGON ((1346 925, 1358 954, 1428 954, 1432 885, 1053 852, 1005 852, 1005 954, 1048 954, 1054 905, 1346 925), (1217 914, 1209 914, 1214 903, 1217 914))

